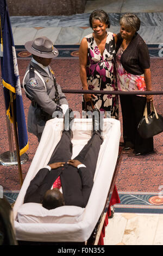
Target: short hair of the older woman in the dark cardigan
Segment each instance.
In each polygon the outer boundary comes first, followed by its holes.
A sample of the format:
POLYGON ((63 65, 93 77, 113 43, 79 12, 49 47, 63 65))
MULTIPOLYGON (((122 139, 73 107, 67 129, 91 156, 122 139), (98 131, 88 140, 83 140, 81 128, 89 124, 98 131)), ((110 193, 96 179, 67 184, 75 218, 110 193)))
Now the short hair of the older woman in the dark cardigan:
POLYGON ((135 14, 127 13, 124 14, 120 19, 120 25, 124 27, 134 28, 135 31, 139 31, 140 28, 140 19, 135 14))

